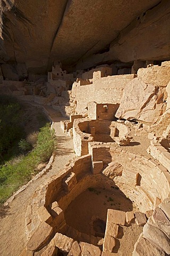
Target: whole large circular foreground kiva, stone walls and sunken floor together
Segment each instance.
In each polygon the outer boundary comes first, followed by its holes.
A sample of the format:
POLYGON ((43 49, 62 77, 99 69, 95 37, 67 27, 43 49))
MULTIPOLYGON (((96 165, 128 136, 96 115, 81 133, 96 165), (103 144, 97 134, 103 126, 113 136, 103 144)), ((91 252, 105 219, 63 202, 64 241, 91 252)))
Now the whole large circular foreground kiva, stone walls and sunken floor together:
POLYGON ((102 255, 107 255, 116 248, 121 229, 135 221, 145 226, 134 245, 134 256, 150 249, 155 255, 169 254, 170 174, 166 167, 112 142, 91 142, 89 151, 72 160, 33 195, 25 220, 27 252, 44 247, 43 253, 48 255, 54 255, 56 250, 68 255, 74 255, 73 250, 96 253, 91 255, 101 255, 103 251, 102 255), (83 193, 88 199, 77 210, 74 206, 85 198, 83 193), (91 196, 87 197, 88 193, 91 196), (116 198, 121 198, 120 204, 116 198), (91 205, 94 209, 98 205, 98 212, 85 214, 91 205), (81 225, 75 216, 77 211, 81 225))

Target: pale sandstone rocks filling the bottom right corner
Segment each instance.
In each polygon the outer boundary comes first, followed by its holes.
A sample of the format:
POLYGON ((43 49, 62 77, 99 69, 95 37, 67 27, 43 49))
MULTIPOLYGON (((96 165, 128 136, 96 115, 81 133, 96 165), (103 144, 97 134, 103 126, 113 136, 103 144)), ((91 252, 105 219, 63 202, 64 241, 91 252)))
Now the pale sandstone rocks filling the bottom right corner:
POLYGON ((169 204, 170 198, 166 198, 156 207, 135 243, 133 256, 170 254, 169 204))

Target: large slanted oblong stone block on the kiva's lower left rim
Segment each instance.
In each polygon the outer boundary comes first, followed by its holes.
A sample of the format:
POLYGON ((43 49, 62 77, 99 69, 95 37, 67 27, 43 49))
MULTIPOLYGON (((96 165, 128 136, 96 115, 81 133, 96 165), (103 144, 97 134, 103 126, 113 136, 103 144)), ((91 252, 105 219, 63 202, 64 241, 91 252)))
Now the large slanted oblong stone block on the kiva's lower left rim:
POLYGON ((46 222, 41 222, 39 227, 30 237, 27 243, 27 249, 30 251, 36 251, 39 247, 44 245, 53 233, 53 228, 46 222))

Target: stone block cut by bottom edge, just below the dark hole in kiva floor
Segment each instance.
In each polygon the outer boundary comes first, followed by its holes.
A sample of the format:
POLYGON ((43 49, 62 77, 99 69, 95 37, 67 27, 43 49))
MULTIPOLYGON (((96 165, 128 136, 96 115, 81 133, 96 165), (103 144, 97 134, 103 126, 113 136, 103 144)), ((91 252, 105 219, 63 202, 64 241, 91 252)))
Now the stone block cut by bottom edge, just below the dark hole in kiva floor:
POLYGON ((81 256, 100 256, 101 255, 101 251, 99 249, 99 247, 92 245, 92 244, 88 244, 88 243, 84 243, 84 242, 80 242, 80 248, 81 248, 81 256))

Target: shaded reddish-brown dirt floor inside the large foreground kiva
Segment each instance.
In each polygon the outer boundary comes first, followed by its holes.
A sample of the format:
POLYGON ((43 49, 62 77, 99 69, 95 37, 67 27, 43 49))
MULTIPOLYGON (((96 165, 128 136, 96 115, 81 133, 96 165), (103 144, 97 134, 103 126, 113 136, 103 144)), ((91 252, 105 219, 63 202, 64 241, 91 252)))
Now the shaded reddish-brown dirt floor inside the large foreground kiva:
POLYGON ((92 188, 92 191, 84 191, 71 202, 65 212, 66 223, 82 233, 91 235, 91 220, 96 217, 106 222, 107 209, 132 211, 133 205, 130 199, 117 190, 113 193, 109 190, 92 188))

